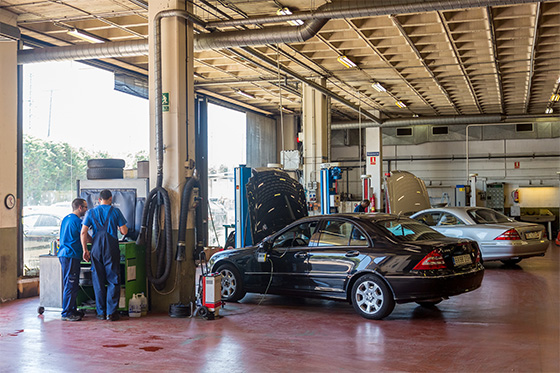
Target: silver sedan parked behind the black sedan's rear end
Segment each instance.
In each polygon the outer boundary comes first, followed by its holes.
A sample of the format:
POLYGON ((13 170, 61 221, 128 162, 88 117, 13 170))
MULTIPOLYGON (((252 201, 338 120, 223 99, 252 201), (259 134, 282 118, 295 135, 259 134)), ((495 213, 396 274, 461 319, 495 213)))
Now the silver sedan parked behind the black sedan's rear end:
POLYGON ((544 226, 518 222, 485 207, 434 208, 411 217, 446 236, 477 241, 487 261, 516 264, 524 258, 543 256, 549 244, 544 226))

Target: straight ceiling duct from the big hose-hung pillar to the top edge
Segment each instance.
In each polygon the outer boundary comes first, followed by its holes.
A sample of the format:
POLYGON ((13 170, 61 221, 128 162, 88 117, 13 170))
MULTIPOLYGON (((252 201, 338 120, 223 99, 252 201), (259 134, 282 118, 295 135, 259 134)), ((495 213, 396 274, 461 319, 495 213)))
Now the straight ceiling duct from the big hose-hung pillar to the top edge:
POLYGON ((293 14, 286 16, 263 16, 227 21, 215 21, 209 22, 208 27, 235 27, 266 23, 281 23, 298 19, 305 21, 317 18, 360 18, 390 14, 410 14, 452 9, 482 8, 487 6, 540 3, 544 1, 545 0, 385 0, 381 4, 380 2, 374 3, 371 0, 336 1, 324 4, 318 7, 315 11, 311 12, 294 12, 293 14))

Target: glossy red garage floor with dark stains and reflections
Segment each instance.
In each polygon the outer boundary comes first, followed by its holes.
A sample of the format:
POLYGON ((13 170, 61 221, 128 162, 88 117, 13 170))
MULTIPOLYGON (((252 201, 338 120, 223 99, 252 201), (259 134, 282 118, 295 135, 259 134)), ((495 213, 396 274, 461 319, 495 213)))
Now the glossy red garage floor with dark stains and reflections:
POLYGON ((219 320, 118 322, 0 305, 0 372, 559 372, 560 248, 427 310, 368 321, 349 304, 248 295, 219 320))

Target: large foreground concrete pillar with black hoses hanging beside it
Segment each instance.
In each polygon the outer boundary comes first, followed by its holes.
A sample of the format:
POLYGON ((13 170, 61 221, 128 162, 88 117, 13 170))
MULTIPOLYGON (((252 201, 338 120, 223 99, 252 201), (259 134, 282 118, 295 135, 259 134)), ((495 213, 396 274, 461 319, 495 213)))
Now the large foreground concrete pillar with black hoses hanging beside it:
MULTIPOLYGON (((162 10, 179 9, 192 4, 184 1, 150 1, 150 184, 156 185, 156 137, 155 137, 155 97, 154 83, 154 17, 162 10)), ((193 77, 193 30, 182 18, 163 18, 161 21, 162 40, 162 92, 168 102, 163 111, 163 187, 167 189, 172 205, 174 250, 177 242, 180 198, 185 177, 191 175, 185 165, 195 159, 194 120, 194 77, 193 77)), ((194 214, 189 214, 187 224, 187 260, 177 266, 173 257, 171 275, 166 287, 157 292, 152 287, 152 308, 156 312, 167 312, 171 303, 188 303, 194 299, 195 266, 192 260, 194 248, 194 214), (179 273, 177 273, 177 270, 179 273), (177 276, 177 277, 176 277, 177 276), (177 279, 177 281, 176 281, 177 279)), ((175 252, 173 253, 175 255, 175 252)))

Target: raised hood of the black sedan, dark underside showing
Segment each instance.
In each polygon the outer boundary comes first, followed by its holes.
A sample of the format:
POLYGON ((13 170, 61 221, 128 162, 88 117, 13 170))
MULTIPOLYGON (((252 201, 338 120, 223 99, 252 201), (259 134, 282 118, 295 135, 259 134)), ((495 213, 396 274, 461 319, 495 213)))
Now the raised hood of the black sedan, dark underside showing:
POLYGON ((256 171, 246 188, 254 243, 307 216, 303 186, 284 171, 256 171))

